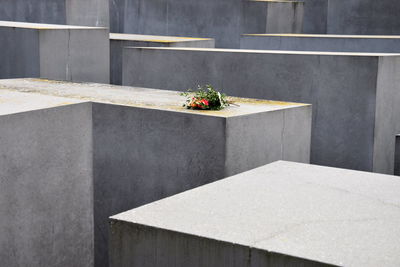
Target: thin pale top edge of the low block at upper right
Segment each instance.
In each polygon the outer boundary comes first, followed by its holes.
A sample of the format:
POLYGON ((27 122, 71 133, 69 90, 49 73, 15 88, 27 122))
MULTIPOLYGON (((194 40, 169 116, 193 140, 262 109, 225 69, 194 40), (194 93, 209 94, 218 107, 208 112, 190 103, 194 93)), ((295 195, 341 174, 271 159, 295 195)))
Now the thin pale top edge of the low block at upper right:
POLYGON ((400 39, 400 35, 346 35, 346 34, 296 34, 255 33, 242 34, 250 37, 303 37, 303 38, 351 38, 351 39, 400 39))

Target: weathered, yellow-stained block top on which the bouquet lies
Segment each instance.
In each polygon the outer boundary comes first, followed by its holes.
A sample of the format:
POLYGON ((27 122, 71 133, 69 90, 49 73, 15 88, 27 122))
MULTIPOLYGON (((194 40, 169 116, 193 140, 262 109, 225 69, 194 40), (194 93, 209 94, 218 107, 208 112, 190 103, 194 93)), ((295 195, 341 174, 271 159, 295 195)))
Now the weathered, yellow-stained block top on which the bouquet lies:
MULTIPOLYGON (((256 100, 246 98, 232 98, 239 106, 230 106, 222 111, 198 111, 182 107, 185 97, 179 92, 136 88, 127 86, 113 86, 97 83, 70 83, 50 81, 44 79, 5 79, 0 80, 0 92, 17 91, 39 95, 72 98, 80 101, 109 103, 133 107, 169 110, 175 112, 195 113, 214 117, 234 117, 253 113, 282 110, 308 104, 256 100)), ((0 95, 0 105, 4 102, 0 95)), ((64 101, 65 102, 65 101, 64 101)))

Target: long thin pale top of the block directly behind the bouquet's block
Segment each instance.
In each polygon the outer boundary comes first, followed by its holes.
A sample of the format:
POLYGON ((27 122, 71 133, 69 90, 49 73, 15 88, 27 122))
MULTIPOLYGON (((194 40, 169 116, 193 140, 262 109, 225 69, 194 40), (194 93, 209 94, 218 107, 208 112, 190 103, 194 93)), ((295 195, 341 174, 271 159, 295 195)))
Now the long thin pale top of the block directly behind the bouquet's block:
POLYGON ((320 52, 320 51, 283 51, 283 50, 250 50, 250 49, 224 49, 224 48, 194 48, 194 47, 126 47, 126 49, 147 50, 188 50, 220 53, 253 53, 253 54, 287 54, 287 55, 320 55, 320 56, 400 56, 397 53, 356 53, 356 52, 320 52))

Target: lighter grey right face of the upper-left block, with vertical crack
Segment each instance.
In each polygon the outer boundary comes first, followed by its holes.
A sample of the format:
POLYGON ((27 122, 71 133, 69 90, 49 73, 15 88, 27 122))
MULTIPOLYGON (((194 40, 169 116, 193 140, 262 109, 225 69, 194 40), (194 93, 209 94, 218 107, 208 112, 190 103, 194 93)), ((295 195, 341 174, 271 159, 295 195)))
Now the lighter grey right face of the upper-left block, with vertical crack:
POLYGON ((40 77, 109 83, 106 29, 40 31, 40 77))

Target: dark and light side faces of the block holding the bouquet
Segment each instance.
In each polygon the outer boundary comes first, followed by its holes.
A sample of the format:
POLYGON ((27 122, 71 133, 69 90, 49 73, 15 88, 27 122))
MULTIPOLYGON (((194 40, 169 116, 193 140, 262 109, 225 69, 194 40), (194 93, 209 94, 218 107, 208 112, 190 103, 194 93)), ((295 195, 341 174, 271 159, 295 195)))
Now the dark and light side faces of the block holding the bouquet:
POLYGON ((226 119, 102 104, 93 111, 96 266, 107 262, 111 214, 277 159, 309 162, 310 106, 226 119))

